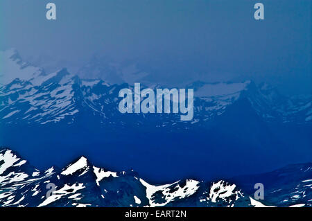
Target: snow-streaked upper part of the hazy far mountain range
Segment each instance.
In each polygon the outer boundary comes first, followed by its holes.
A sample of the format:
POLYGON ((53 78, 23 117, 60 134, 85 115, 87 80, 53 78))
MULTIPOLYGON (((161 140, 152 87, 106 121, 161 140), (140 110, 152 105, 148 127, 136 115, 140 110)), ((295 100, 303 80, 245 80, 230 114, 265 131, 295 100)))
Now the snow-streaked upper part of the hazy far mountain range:
MULTIPOLYGON (((109 85, 103 80, 80 79, 61 69, 46 74, 43 69, 23 62, 15 50, 1 53, 1 123, 71 123, 78 113, 88 112, 100 118, 118 114, 118 93, 131 85, 109 85)), ((87 72, 87 71, 86 71, 87 72)), ((157 86, 155 86, 157 87, 157 86)), ((265 121, 282 123, 311 123, 311 96, 287 98, 268 85, 246 81, 242 83, 194 82, 187 88, 195 89, 196 117, 188 127, 198 127, 223 114, 227 107, 239 100, 248 100, 250 106, 265 121), (195 125, 194 125, 195 124, 195 125), (193 125, 193 126, 192 126, 193 125)), ((122 119, 122 114, 119 118, 122 119)), ((142 116, 142 120, 145 116, 142 116)), ((157 118, 159 118, 157 116, 157 118)), ((177 118, 162 115, 156 126, 175 125, 177 118)), ((102 123, 113 122, 112 118, 102 123)), ((183 126, 185 127, 185 126, 183 126)))

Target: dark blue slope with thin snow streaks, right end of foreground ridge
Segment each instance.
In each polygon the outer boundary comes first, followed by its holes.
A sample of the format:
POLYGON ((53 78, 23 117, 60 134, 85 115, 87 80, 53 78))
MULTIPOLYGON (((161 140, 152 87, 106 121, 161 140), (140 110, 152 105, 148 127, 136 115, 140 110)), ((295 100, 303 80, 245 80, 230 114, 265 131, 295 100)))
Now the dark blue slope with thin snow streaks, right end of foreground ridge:
POLYGON ((289 206, 291 204, 306 204, 312 206, 312 163, 293 164, 259 175, 234 177, 239 188, 252 194, 254 186, 261 182, 264 186, 264 202, 272 205, 289 206))

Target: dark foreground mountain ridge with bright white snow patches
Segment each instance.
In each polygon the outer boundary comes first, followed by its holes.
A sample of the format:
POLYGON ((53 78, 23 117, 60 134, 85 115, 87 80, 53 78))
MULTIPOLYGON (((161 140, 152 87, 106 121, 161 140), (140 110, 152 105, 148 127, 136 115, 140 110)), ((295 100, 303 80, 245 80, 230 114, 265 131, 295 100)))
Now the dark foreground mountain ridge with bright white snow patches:
POLYGON ((312 206, 311 177, 312 163, 306 163, 233 178, 238 185, 224 180, 194 179, 152 185, 133 170, 111 172, 94 166, 85 157, 63 169, 51 167, 40 171, 19 154, 3 149, 0 150, 0 206, 302 207, 312 206), (264 184, 265 197, 261 202, 254 200, 251 193, 254 182, 264 184))

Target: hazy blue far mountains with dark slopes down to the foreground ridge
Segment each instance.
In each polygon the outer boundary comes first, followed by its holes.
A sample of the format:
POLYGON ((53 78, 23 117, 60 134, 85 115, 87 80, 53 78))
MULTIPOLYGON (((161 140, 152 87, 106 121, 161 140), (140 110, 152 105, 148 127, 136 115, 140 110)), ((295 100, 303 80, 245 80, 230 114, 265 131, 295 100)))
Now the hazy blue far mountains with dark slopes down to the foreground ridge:
MULTIPOLYGON (((162 170, 166 179, 259 173, 311 161, 311 95, 287 97, 252 81, 193 82, 186 86, 194 89, 193 121, 180 121, 180 114, 121 114, 119 90, 132 85, 81 79, 67 69, 45 73, 16 50, 0 58, 0 145, 21 153, 49 154, 52 161, 62 151, 56 161, 62 164, 74 147, 117 168, 133 166, 144 175, 162 170)), ((94 66, 81 71, 87 76, 94 66)))

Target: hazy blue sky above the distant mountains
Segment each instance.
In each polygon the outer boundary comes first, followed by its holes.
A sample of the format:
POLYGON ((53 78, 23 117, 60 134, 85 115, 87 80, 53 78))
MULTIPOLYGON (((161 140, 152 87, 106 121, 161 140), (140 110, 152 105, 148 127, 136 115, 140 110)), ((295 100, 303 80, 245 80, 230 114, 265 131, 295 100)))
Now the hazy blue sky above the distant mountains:
POLYGON ((0 49, 73 71, 101 53, 136 62, 155 82, 252 79, 311 94, 311 2, 1 0, 0 49), (56 21, 45 17, 49 2, 56 21))

